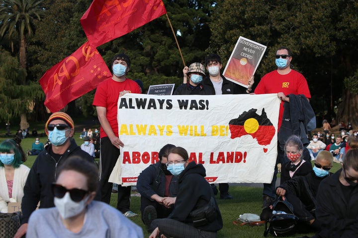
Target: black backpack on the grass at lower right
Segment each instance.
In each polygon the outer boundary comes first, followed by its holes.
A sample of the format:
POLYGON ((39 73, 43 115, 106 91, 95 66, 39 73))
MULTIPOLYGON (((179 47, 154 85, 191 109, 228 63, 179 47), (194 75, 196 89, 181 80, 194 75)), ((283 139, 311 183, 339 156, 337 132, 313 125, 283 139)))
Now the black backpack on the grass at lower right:
POLYGON ((264 236, 266 237, 269 233, 275 237, 295 234, 298 217, 293 214, 292 204, 279 197, 272 207, 272 216, 266 222, 264 236))

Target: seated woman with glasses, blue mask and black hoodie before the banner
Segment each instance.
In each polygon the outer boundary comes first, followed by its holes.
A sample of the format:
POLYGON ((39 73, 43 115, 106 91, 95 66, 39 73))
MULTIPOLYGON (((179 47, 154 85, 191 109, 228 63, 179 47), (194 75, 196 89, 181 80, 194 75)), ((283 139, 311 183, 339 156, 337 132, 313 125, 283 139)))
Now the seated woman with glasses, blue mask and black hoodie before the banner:
POLYGON ((152 222, 154 231, 149 238, 161 234, 168 238, 216 238, 217 231, 223 227, 214 193, 204 178, 204 167, 189 163, 188 159, 182 147, 174 147, 169 152, 167 166, 179 177, 179 192, 169 217, 152 222))

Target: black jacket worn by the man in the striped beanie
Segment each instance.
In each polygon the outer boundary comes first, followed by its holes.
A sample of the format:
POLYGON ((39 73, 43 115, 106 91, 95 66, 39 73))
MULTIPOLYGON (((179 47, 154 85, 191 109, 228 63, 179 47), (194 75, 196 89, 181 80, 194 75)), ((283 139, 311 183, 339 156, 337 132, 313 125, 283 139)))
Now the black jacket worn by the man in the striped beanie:
POLYGON ((31 213, 35 211, 39 201, 40 208, 55 206, 51 184, 56 181, 57 168, 63 164, 69 156, 77 155, 90 162, 94 162, 93 157, 86 151, 81 150, 81 147, 76 144, 74 139, 71 138, 70 141, 70 147, 63 154, 57 165, 55 159, 50 155, 52 144, 48 145, 46 149, 37 156, 24 186, 24 196, 21 202, 21 224, 28 222, 31 213))

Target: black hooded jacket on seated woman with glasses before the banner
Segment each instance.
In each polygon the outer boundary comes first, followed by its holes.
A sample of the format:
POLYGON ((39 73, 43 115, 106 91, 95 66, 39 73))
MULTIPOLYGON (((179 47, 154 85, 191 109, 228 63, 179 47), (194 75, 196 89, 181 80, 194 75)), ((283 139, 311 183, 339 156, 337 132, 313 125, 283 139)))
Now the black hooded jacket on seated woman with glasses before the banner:
MULTIPOLYGON (((202 164, 190 162, 185 170, 179 175, 179 193, 175 203, 174 211, 168 218, 192 225, 189 218, 191 211, 208 205, 210 198, 214 196, 210 184, 204 179, 205 168, 202 164)), ((202 227, 200 230, 208 232, 219 231, 223 227, 219 207, 215 201, 217 218, 212 223, 202 227)))

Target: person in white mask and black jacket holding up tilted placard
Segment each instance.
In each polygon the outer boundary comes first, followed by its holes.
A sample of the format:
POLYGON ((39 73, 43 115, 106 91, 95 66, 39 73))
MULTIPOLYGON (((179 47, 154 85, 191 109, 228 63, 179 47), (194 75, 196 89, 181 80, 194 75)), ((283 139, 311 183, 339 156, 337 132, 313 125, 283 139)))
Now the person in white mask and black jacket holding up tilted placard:
MULTIPOLYGON (((245 92, 244 87, 227 80, 224 75, 222 75, 222 63, 219 55, 210 54, 206 56, 205 66, 209 74, 203 79, 203 85, 205 90, 209 92, 209 95, 247 94, 251 92, 254 78, 248 82, 249 85, 245 92)), ((229 183, 219 183, 219 190, 221 199, 232 199, 229 193, 229 183)))

